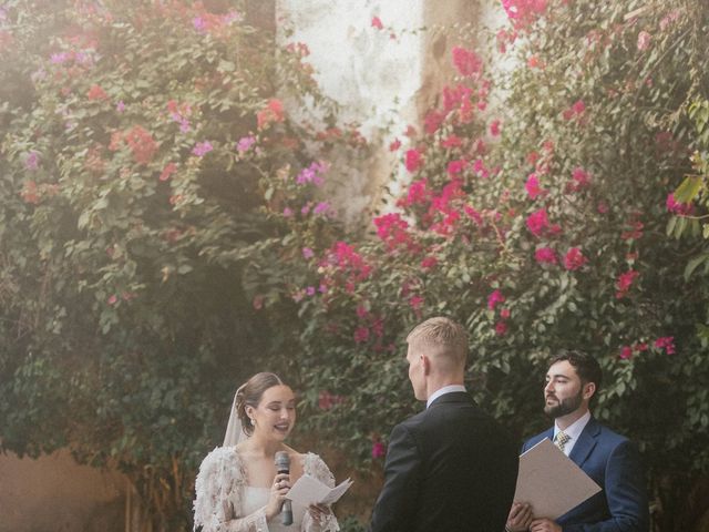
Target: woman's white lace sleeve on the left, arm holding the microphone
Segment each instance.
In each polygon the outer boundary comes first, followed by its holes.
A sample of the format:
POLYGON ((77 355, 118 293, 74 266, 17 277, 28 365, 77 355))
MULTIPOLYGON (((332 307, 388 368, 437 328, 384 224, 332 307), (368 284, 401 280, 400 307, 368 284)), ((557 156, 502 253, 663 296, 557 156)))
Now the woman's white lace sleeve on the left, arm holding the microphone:
POLYGON ((239 518, 245 477, 233 447, 217 447, 206 456, 195 482, 195 531, 202 526, 202 532, 268 532, 263 509, 239 518))

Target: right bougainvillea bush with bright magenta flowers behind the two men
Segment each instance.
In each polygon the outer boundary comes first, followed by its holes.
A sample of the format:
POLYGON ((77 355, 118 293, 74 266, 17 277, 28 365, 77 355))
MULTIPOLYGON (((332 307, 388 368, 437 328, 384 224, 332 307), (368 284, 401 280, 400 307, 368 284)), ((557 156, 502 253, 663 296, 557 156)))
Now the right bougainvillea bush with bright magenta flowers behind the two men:
POLYGON ((413 409, 405 334, 443 314, 469 330, 473 393, 522 438, 548 424, 548 357, 580 348, 605 372, 596 416, 643 450, 657 526, 687 530, 706 510, 677 487, 699 485, 709 466, 709 366, 703 278, 684 272, 706 244, 674 238, 678 217, 698 224, 672 194, 700 141, 689 109, 709 91, 709 11, 501 8, 494 59, 452 33, 456 76, 392 143, 407 184, 395 207, 369 238, 300 249, 307 277, 287 291, 302 318, 308 419, 380 460, 413 409))

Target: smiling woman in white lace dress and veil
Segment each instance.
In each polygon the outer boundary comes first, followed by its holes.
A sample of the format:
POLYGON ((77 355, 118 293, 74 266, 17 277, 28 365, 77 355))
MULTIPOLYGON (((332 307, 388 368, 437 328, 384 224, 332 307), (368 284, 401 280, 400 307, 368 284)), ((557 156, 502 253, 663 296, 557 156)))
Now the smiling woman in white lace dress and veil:
POLYGON ((296 398, 275 374, 256 374, 236 391, 224 446, 206 456, 195 485, 195 530, 203 532, 335 532, 328 507, 292 503, 292 524, 281 523, 288 490, 302 474, 332 488, 320 457, 284 443, 296 422, 296 398), (277 473, 275 456, 290 458, 290 474, 277 473))

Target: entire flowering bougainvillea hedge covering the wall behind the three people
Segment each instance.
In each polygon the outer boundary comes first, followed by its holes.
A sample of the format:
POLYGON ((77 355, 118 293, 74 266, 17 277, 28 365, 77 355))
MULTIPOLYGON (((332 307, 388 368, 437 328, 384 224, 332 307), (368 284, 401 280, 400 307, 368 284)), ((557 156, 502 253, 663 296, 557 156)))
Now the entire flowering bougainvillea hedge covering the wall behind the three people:
POLYGON ((415 409, 405 334, 444 314, 470 332, 475 398, 521 439, 548 423, 547 358, 596 355, 595 413, 640 444, 657 529, 696 526, 706 503, 679 488, 709 464, 709 11, 502 9, 496 51, 449 29, 456 75, 391 132, 404 191, 362 232, 322 185, 367 147, 305 44, 226 1, 7 1, 2 448, 117 464, 178 530, 257 369, 301 390, 301 433, 380 467, 415 409))

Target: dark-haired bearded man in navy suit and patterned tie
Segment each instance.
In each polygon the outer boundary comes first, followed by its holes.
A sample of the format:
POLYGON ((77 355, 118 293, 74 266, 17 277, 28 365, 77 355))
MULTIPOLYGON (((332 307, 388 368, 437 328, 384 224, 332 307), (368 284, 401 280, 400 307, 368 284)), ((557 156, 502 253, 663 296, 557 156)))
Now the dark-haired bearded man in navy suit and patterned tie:
POLYGON ((551 362, 544 387, 544 412, 554 427, 531 438, 522 452, 548 438, 600 488, 556 521, 536 519, 515 501, 507 532, 647 532, 649 510, 640 457, 625 437, 600 424, 590 405, 602 382, 598 361, 582 351, 562 351, 551 362))

